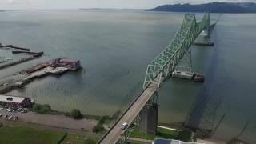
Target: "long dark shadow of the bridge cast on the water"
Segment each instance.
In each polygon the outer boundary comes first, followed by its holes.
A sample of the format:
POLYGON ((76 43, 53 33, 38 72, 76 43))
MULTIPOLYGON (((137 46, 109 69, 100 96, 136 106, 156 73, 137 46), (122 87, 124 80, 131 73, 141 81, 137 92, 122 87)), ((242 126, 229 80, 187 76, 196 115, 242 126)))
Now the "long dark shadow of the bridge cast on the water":
MULTIPOLYGON (((214 34, 215 37, 217 34, 214 34)), ((218 38, 214 38, 217 40, 218 38)), ((205 47, 202 47, 205 48, 205 47)), ((207 47, 206 47, 207 48, 207 47)), ((194 101, 194 104, 190 108, 190 112, 186 117, 185 126, 192 130, 200 131, 199 134, 202 137, 210 136, 214 129, 215 115, 218 110, 218 106, 222 102, 222 96, 216 94, 216 87, 218 86, 218 43, 215 43, 214 47, 210 47, 213 50, 213 54, 210 58, 206 70, 206 81, 199 91, 198 98, 194 101)))

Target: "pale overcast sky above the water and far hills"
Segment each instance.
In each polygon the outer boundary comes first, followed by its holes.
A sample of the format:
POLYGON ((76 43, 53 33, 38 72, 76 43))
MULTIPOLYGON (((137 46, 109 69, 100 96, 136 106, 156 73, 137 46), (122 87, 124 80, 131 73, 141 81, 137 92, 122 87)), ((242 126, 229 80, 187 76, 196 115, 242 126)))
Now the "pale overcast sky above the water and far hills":
POLYGON ((149 9, 174 3, 256 2, 256 0, 0 0, 0 9, 149 9))

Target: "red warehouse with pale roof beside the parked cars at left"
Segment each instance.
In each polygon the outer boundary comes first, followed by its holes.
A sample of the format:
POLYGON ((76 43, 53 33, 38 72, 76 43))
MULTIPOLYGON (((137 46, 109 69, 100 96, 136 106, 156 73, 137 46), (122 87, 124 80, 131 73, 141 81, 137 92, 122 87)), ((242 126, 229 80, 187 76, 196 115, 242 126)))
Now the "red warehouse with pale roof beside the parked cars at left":
POLYGON ((0 105, 13 108, 25 108, 32 106, 31 98, 0 95, 0 105))

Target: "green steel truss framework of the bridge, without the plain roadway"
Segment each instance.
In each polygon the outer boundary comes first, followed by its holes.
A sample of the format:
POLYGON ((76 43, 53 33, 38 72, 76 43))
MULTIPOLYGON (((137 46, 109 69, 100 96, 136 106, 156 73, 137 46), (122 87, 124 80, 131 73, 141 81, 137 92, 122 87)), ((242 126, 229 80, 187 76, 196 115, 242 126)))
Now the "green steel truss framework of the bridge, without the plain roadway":
POLYGON ((160 84, 171 76, 178 61, 186 54, 203 30, 207 35, 210 34, 209 13, 204 14, 201 22, 196 22, 194 14, 185 14, 182 25, 170 44, 147 66, 143 89, 146 89, 150 83, 154 83, 159 90, 160 84))

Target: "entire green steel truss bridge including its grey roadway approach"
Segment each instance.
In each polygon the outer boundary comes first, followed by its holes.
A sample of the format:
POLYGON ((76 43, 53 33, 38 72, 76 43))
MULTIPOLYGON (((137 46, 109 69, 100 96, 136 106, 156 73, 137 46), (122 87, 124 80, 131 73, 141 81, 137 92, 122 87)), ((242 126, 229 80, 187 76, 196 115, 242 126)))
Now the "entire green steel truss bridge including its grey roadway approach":
MULTIPOLYGON (((218 21, 217 21, 218 22, 218 21)), ((126 130, 121 130, 123 122, 130 126, 140 111, 146 106, 150 99, 158 92, 162 82, 170 78, 172 72, 178 65, 178 62, 189 51, 198 35, 204 31, 205 39, 209 38, 210 32, 214 29, 215 24, 210 24, 210 14, 204 14, 202 21, 197 22, 195 14, 186 14, 178 32, 174 35, 173 40, 150 64, 147 66, 146 76, 143 83, 142 93, 134 99, 134 102, 118 118, 109 131, 98 141, 102 144, 116 143, 122 135, 126 136, 126 130)))

